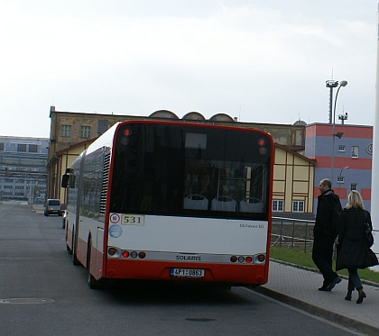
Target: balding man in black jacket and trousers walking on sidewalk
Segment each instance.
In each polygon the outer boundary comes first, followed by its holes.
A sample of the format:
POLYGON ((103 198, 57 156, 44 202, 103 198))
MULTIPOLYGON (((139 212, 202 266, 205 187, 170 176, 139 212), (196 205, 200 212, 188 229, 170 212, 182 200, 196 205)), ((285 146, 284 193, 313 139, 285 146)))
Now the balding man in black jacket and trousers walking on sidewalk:
POLYGON ((313 228, 312 259, 324 277, 324 283, 319 287, 320 291, 331 291, 341 282, 341 278, 332 269, 333 245, 337 237, 335 212, 341 212, 342 206, 338 195, 331 189, 328 178, 319 182, 316 222, 313 228), (335 210, 336 209, 336 210, 335 210))

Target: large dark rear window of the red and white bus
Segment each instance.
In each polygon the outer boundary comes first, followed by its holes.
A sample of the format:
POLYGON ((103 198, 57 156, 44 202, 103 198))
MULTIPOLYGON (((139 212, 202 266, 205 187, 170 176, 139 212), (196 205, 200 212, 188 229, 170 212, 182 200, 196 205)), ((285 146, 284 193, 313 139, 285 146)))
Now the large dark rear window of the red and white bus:
POLYGON ((262 218, 272 159, 271 142, 262 139, 241 130, 127 124, 116 140, 110 210, 262 218))

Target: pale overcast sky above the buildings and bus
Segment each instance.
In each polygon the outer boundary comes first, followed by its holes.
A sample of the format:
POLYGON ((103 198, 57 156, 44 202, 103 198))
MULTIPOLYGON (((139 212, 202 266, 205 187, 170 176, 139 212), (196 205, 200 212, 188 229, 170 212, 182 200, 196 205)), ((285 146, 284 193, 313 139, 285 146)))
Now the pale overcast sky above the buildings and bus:
POLYGON ((328 79, 348 82, 336 115, 372 125, 377 7, 378 0, 0 0, 0 135, 48 138, 51 105, 328 123, 328 79))

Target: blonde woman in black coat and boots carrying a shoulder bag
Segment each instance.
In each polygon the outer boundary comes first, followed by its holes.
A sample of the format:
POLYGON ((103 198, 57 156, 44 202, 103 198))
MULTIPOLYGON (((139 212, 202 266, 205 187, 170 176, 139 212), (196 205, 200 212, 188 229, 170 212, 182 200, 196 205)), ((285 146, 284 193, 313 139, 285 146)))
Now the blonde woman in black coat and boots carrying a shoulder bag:
POLYGON ((365 216, 366 222, 369 222, 372 230, 371 216, 365 210, 362 196, 356 190, 351 191, 348 195, 347 206, 341 213, 341 222, 338 228, 336 270, 347 268, 348 286, 345 300, 351 300, 351 295, 356 288, 358 291, 357 304, 362 304, 365 297, 357 268, 368 268, 378 264, 376 257, 373 257, 373 252, 371 252, 371 258, 368 258, 369 247, 365 236, 365 216))

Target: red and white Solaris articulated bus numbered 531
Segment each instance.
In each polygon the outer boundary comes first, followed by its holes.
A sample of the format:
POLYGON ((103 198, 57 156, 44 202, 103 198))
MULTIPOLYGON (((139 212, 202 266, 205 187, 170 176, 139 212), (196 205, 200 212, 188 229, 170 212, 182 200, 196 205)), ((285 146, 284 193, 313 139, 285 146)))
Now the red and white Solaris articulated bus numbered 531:
POLYGON ((62 177, 66 245, 106 279, 267 282, 273 139, 213 124, 116 123, 62 177))

